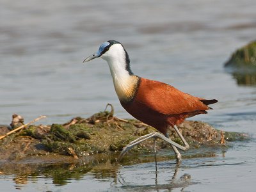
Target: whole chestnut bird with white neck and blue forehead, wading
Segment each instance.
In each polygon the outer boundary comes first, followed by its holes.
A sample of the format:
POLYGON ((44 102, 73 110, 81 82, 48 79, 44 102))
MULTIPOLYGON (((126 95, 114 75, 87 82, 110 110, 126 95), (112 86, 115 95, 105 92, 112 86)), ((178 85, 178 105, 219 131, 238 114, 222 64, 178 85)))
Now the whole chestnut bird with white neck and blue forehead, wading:
POLYGON ((182 157, 177 148, 186 151, 189 149, 189 144, 180 133, 177 125, 191 116, 206 114, 208 109, 212 109, 208 105, 214 104, 218 100, 194 97, 181 92, 170 84, 136 76, 131 70, 127 51, 116 40, 109 40, 101 44, 99 50, 88 56, 83 63, 95 58, 102 58, 108 62, 115 91, 122 107, 134 118, 159 131, 131 141, 123 148, 118 161, 132 147, 149 138, 155 139, 154 149, 156 152, 156 139, 159 138, 170 143, 177 162, 180 162, 182 157), (170 139, 168 129, 172 128, 177 132, 183 145, 170 139))

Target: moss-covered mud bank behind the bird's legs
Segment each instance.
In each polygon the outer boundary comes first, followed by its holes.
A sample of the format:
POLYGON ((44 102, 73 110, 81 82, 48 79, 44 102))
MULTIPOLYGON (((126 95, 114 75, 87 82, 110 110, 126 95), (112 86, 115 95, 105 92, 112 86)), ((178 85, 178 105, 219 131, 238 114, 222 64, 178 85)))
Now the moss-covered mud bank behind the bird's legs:
MULTIPOLYGON (((193 148, 228 147, 229 141, 248 139, 246 134, 219 131, 204 122, 186 121, 179 125, 179 129, 195 153, 193 148)), ((0 135, 8 131, 8 127, 0 126, 0 135)), ((129 142, 153 131, 156 129, 138 120, 122 120, 113 116, 113 110, 102 111, 89 118, 76 117, 62 125, 30 125, 0 140, 0 163, 69 162, 78 161, 76 156, 79 159, 92 159, 93 154, 115 159, 129 142)), ((170 138, 182 144, 174 130, 170 131, 170 138)), ((147 140, 132 148, 130 153, 152 153, 153 145, 154 140, 147 140)), ((169 149, 170 145, 158 140, 157 150, 164 148, 169 149)))

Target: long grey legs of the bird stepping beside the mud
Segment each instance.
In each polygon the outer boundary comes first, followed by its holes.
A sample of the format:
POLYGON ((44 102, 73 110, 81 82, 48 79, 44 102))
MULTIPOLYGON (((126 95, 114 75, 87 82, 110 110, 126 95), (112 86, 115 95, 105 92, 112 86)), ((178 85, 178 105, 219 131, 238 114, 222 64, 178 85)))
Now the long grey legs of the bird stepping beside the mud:
POLYGON ((122 157, 124 157, 125 153, 127 151, 129 151, 132 147, 134 147, 135 145, 138 145, 139 143, 148 140, 149 138, 159 138, 161 140, 166 141, 167 143, 170 143, 170 145, 172 145, 177 159, 181 158, 181 155, 179 153, 179 151, 177 150, 177 148, 181 149, 181 150, 188 150, 189 149, 189 145, 186 142, 186 140, 183 138, 183 136, 180 134, 179 129, 176 127, 174 127, 175 131, 177 132, 177 134, 179 135, 180 139, 182 140, 182 142, 184 143, 184 146, 179 145, 178 143, 175 143, 174 141, 170 140, 170 138, 166 138, 166 136, 164 136, 163 134, 160 134, 159 132, 151 132, 149 134, 146 134, 145 136, 141 136, 140 138, 137 138, 136 140, 132 141, 131 143, 129 143, 128 145, 126 145, 124 147, 124 149, 122 150, 121 154, 118 157, 118 161, 120 161, 120 159, 122 159, 122 157), (176 148, 177 147, 177 148, 176 148), (180 157, 179 157, 180 155, 180 157))

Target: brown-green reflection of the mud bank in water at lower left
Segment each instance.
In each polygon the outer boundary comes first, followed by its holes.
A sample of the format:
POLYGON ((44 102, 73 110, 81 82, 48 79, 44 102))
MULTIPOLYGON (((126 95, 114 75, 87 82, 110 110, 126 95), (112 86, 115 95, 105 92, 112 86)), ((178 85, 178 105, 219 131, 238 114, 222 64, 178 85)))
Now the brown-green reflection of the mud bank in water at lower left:
POLYGON ((28 184, 28 180, 38 180, 40 177, 52 179, 55 185, 66 185, 70 179, 81 180, 90 173, 95 179, 113 178, 117 180, 119 165, 111 160, 90 161, 90 163, 63 163, 63 164, 1 164, 0 172, 4 175, 15 175, 15 187, 28 184))

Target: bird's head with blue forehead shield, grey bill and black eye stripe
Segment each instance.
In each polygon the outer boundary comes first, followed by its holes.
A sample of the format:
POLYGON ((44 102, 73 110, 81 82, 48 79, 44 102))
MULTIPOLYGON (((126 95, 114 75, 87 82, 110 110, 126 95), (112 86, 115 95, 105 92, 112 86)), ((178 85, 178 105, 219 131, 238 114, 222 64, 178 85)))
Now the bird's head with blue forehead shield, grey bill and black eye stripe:
POLYGON ((101 44, 99 50, 91 56, 88 56, 88 58, 86 58, 84 62, 88 62, 95 58, 102 58, 106 61, 115 58, 125 58, 126 54, 127 52, 125 51, 123 45, 120 44, 120 42, 117 42, 115 40, 109 40, 108 42, 104 42, 103 44, 101 44))

